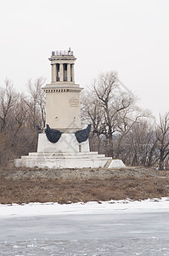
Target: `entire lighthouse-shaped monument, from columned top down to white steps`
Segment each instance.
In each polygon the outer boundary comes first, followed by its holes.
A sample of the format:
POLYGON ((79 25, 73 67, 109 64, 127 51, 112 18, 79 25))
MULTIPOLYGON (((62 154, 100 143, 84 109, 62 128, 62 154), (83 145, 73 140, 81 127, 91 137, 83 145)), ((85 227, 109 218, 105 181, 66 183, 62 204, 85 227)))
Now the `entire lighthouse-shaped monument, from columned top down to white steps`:
POLYGON ((75 84, 76 58, 71 50, 53 51, 52 81, 46 92, 46 125, 38 134, 37 153, 15 160, 15 166, 48 168, 124 167, 121 160, 112 160, 98 152, 90 152, 90 127, 82 130, 79 84, 75 84))

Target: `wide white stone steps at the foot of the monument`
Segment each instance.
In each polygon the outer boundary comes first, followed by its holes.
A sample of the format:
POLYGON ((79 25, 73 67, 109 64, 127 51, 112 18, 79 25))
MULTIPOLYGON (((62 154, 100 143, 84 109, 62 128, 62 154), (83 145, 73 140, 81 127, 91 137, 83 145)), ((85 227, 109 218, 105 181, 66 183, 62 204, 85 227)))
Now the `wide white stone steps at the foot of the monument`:
POLYGON ((38 167, 38 168, 98 168, 109 167, 111 157, 105 157, 98 152, 37 152, 21 156, 15 160, 15 166, 38 167))

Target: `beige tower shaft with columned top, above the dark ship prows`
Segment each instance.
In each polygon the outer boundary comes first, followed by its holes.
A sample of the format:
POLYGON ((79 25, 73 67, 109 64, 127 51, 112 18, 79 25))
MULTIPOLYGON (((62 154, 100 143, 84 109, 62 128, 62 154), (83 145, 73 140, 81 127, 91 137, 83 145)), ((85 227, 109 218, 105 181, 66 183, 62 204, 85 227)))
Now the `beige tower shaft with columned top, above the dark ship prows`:
POLYGON ((51 61, 51 84, 43 87, 46 92, 46 124, 59 131, 81 129, 80 92, 75 84, 76 58, 71 50, 56 50, 51 61))

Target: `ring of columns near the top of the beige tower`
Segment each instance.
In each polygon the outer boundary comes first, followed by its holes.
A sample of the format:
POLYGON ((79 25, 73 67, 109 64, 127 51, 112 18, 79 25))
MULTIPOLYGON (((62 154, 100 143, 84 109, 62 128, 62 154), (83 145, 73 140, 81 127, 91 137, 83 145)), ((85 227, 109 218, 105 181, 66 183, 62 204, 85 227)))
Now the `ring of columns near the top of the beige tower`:
POLYGON ((52 82, 75 82, 74 64, 56 63, 52 65, 52 82))

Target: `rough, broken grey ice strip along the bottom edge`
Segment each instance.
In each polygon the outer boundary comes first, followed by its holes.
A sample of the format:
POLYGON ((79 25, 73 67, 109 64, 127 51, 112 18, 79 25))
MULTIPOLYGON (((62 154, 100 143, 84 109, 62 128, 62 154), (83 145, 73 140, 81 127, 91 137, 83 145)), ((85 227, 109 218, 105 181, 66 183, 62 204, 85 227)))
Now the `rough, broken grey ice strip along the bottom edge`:
POLYGON ((162 256, 169 255, 167 239, 110 240, 28 240, 6 242, 0 246, 0 255, 71 255, 71 256, 162 256))

